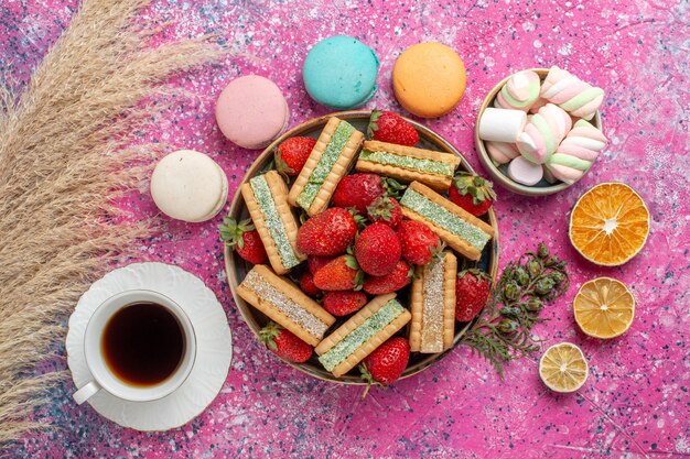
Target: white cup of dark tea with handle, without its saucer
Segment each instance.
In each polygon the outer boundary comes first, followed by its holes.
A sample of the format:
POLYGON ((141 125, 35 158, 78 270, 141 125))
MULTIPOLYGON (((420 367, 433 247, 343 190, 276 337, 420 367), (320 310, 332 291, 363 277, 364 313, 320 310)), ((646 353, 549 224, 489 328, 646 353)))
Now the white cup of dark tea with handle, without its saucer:
POLYGON ((96 308, 86 326, 84 354, 94 380, 74 393, 78 404, 99 391, 149 402, 171 394, 190 375, 196 337, 175 302, 152 291, 127 291, 96 308))

